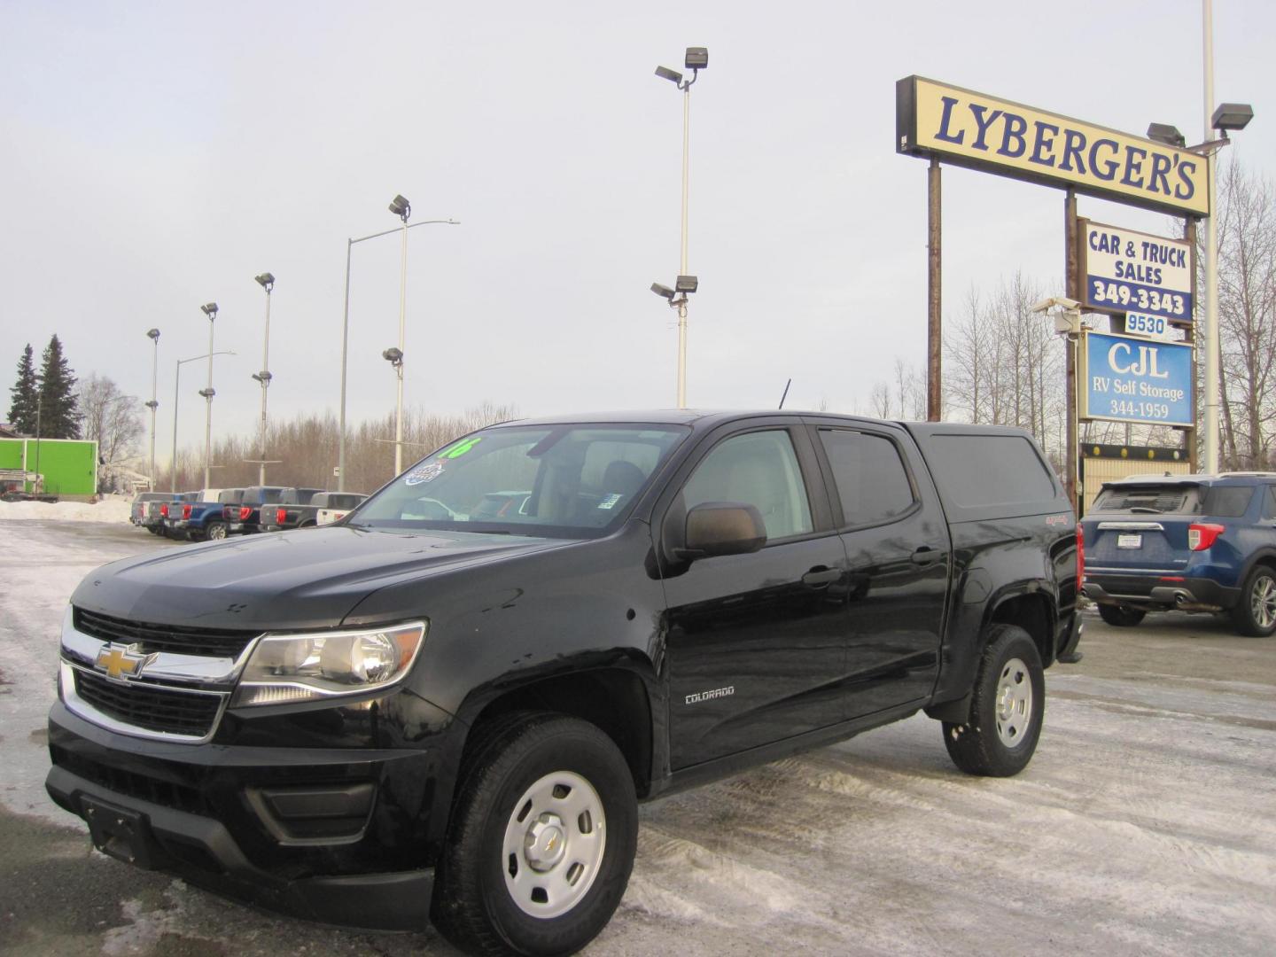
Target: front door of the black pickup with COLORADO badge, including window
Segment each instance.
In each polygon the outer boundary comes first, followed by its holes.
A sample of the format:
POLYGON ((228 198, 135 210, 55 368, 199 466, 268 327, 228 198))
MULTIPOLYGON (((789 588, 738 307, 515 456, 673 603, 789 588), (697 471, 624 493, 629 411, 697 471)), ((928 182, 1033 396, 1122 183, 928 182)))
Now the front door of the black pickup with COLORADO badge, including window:
POLYGON ((683 486, 688 509, 754 505, 767 544, 665 575, 674 771, 843 718, 846 551, 827 499, 813 508, 824 491, 808 441, 785 427, 731 435, 683 486))

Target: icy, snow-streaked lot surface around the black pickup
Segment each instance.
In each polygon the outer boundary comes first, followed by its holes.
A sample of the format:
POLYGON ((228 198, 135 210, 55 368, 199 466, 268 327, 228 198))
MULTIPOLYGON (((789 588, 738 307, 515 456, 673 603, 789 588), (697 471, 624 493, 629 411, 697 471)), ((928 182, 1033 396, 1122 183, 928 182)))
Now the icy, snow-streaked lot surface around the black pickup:
MULTIPOLYGON (((157 547, 190 546, 0 521, 0 846, 17 868, 0 951, 454 953, 433 933, 320 928, 126 868, 43 795, 66 597, 94 565, 157 547)), ((1208 616, 1087 618, 1082 649, 1048 672, 1045 731, 1016 778, 958 773, 919 716, 644 805, 629 891, 586 953, 1266 957, 1276 638, 1208 616)))

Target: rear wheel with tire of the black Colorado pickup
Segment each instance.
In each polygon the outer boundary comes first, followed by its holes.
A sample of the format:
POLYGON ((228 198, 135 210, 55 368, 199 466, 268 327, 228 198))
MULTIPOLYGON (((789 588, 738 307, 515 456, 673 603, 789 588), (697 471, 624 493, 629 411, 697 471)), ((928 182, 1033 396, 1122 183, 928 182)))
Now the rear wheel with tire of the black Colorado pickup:
POLYGON ((975 676, 970 718, 943 725, 948 757, 967 775, 1017 775, 1032 759, 1044 716, 1045 672, 1036 643, 1017 625, 993 625, 975 676))

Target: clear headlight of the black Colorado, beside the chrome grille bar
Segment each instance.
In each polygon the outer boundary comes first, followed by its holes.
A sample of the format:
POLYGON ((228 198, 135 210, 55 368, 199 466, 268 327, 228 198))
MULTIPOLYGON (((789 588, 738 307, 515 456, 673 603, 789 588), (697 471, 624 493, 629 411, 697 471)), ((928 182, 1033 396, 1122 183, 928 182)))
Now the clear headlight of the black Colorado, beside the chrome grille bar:
POLYGON ((412 667, 426 621, 361 632, 268 634, 253 649, 231 707, 291 704, 384 688, 412 667))

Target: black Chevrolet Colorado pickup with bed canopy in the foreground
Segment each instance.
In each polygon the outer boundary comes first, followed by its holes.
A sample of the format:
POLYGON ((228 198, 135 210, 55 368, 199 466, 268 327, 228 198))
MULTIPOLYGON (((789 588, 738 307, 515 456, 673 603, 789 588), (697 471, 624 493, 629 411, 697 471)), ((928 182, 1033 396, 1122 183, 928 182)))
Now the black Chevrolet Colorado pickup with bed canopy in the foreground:
POLYGON ((637 803, 917 711, 1032 757, 1076 521, 1027 433, 819 413, 519 421, 345 519, 71 596, 47 790, 106 854, 476 953, 607 923, 637 803))

